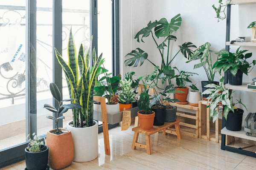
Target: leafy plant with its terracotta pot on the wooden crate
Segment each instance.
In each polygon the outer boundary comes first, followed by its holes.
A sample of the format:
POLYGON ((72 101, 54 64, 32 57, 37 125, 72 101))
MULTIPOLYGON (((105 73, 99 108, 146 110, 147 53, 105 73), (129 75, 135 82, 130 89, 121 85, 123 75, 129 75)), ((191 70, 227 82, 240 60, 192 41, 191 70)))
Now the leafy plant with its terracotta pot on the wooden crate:
POLYGON ((186 82, 191 82, 191 80, 189 80, 188 77, 193 76, 196 73, 186 72, 186 71, 179 71, 176 67, 174 67, 174 68, 179 72, 179 74, 175 76, 176 77, 176 84, 177 84, 176 91, 183 91, 184 92, 184 93, 175 92, 176 99, 180 100, 180 102, 178 102, 177 104, 186 105, 188 103, 186 101, 186 99, 187 99, 188 94, 189 94, 189 88, 187 88, 186 82))

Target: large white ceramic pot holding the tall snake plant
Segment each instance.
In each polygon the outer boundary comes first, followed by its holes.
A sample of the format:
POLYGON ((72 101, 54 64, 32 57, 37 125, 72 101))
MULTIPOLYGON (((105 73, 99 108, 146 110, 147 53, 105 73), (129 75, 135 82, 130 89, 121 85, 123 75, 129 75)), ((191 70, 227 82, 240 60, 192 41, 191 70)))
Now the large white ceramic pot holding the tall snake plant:
POLYGON ((76 162, 87 162, 96 159, 99 154, 98 146, 98 122, 91 127, 71 127, 70 121, 67 129, 71 131, 74 143, 74 160, 76 162))

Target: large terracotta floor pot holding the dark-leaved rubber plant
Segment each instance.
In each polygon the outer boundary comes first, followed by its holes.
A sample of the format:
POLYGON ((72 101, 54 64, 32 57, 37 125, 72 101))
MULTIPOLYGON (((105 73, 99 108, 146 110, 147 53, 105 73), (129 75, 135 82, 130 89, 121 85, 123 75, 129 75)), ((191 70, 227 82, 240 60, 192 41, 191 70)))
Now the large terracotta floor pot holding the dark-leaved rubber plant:
POLYGON ((72 163, 74 144, 70 130, 59 128, 59 130, 69 131, 61 135, 51 133, 53 130, 49 130, 46 137, 46 143, 49 147, 48 164, 52 169, 59 170, 68 167, 72 163))

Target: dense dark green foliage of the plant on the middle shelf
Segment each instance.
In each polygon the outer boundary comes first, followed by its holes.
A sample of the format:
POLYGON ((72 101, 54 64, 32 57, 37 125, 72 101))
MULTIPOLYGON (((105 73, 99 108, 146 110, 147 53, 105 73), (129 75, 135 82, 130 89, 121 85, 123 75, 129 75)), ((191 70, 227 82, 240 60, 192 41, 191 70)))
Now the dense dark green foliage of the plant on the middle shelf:
POLYGON ((230 70, 234 77, 236 77, 237 71, 240 69, 244 74, 250 73, 249 68, 251 64, 253 66, 256 64, 256 60, 253 60, 252 63, 248 63, 246 59, 252 57, 252 53, 244 53, 248 50, 239 51, 240 47, 236 50, 236 53, 231 53, 226 50, 221 51, 221 57, 215 62, 212 68, 214 72, 223 70, 226 72, 230 70))

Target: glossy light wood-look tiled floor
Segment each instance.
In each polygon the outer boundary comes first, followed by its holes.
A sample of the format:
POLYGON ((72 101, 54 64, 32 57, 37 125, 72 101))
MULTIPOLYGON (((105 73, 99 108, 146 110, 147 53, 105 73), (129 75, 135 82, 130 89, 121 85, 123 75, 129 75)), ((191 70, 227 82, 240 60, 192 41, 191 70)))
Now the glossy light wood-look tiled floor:
MULTIPOLYGON (((151 135, 152 155, 146 150, 131 149, 133 125, 109 130, 111 156, 105 155, 103 134, 99 134, 99 157, 90 162, 73 162, 63 170, 256 170, 256 158, 220 149, 220 144, 183 136, 160 133, 151 135)), ((138 142, 145 143, 140 134, 138 142)), ((1 170, 24 170, 25 161, 1 170)))

